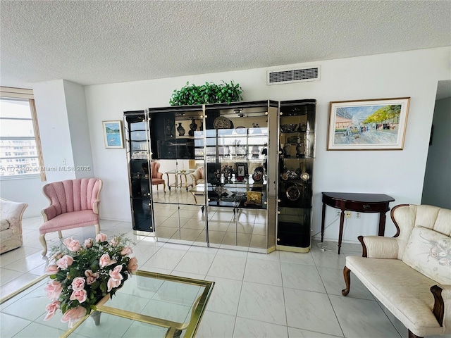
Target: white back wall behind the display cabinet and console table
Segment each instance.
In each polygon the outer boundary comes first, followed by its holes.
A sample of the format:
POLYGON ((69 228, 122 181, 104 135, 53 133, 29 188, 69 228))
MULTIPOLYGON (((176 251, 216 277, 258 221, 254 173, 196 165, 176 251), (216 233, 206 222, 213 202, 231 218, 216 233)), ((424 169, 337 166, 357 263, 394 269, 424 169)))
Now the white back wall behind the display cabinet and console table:
MULTIPOLYGON (((285 65, 176 77, 162 80, 102 84, 85 87, 95 173, 104 180, 102 213, 106 218, 130 220, 125 149, 105 149, 102 120, 121 120, 123 111, 168 106, 174 89, 187 81, 234 80, 244 89, 245 101, 316 99, 316 162, 314 168, 314 233, 321 226, 321 192, 373 192, 395 198, 390 206, 421 203, 429 130, 438 80, 450 79, 450 47, 394 54, 343 58, 296 66, 321 65, 321 81, 267 86, 266 71, 285 65), (410 96, 403 151, 326 151, 330 101, 410 96)), ((335 212, 326 212, 326 239, 338 238, 335 212)), ((377 215, 346 221, 344 240, 376 234, 377 215)), ((388 220, 385 234, 395 234, 388 220)))

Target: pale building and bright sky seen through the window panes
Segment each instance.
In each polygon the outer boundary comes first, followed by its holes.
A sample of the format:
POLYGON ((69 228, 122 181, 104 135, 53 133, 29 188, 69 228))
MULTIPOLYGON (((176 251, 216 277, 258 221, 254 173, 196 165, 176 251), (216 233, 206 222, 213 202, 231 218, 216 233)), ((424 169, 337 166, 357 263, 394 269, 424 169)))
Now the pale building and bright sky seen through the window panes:
POLYGON ((40 174, 31 102, 0 98, 0 177, 40 174))

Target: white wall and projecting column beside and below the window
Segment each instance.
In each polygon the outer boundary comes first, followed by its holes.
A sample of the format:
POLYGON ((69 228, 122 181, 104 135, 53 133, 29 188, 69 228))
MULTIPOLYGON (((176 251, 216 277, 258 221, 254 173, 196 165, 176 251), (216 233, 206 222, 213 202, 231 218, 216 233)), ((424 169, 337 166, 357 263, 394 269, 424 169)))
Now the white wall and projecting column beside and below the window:
MULTIPOLYGON (((33 92, 47 182, 93 177, 85 88, 55 80, 35 83, 33 92)), ((49 205, 42 194, 47 182, 39 177, 2 180, 1 197, 29 204, 24 217, 41 215, 49 205)))

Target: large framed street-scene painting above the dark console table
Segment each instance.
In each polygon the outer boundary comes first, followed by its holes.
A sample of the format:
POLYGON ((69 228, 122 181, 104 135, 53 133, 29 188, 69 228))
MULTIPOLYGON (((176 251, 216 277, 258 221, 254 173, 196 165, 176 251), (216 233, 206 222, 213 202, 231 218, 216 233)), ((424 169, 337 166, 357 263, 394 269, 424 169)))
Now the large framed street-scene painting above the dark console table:
POLYGON ((409 101, 330 102, 327 150, 402 150, 409 101))

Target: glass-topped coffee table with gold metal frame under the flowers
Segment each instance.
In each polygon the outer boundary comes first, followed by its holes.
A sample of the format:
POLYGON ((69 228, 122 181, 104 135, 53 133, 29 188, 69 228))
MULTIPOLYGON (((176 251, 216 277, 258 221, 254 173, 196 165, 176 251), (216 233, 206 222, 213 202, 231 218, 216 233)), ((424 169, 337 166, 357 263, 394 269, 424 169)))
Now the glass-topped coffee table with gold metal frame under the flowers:
POLYGON ((110 299, 68 329, 61 311, 44 321, 50 303, 44 275, 0 301, 1 337, 194 337, 214 282, 136 271, 110 299), (89 318, 91 317, 91 318, 89 318))

